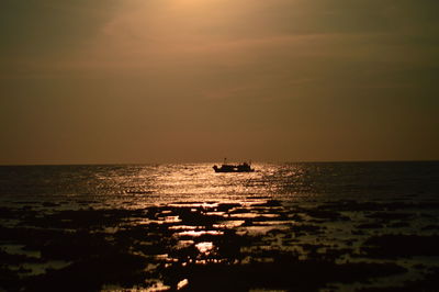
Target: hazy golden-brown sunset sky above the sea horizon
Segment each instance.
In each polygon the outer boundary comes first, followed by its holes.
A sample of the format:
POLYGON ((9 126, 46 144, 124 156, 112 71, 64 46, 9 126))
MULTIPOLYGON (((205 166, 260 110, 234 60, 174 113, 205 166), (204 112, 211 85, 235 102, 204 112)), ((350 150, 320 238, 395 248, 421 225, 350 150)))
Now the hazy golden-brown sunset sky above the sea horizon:
POLYGON ((2 0, 0 165, 439 159, 437 0, 2 0))

